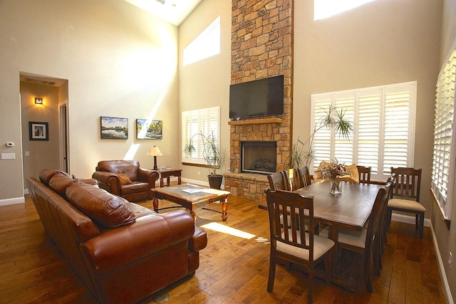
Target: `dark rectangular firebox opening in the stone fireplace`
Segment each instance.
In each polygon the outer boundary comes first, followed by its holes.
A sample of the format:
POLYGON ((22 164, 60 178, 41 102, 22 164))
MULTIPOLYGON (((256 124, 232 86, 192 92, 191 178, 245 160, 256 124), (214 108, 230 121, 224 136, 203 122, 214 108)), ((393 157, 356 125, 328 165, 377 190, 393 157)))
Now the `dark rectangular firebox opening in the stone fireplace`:
POLYGON ((241 172, 271 174, 277 166, 276 142, 241 142, 241 172))

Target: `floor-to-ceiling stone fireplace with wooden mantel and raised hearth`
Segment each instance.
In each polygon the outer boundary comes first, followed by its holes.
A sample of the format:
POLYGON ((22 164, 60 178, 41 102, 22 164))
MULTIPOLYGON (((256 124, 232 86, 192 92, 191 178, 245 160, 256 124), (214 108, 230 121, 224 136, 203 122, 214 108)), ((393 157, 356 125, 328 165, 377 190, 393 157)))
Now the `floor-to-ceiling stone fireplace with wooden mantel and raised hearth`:
POLYGON ((241 142, 275 142, 274 172, 288 169, 291 150, 293 0, 232 0, 231 83, 284 75, 284 115, 230 121, 229 173, 225 189, 234 196, 266 201, 266 174, 244 172, 241 142))

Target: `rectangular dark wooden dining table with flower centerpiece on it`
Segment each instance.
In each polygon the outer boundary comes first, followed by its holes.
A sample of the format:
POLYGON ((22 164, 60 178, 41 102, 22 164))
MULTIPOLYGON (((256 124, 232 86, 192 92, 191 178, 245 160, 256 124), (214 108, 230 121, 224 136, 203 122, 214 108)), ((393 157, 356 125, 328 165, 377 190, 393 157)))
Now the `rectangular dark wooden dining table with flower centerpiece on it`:
MULTIPOLYGON (((385 186, 382 184, 341 182, 341 194, 329 193, 329 187, 329 182, 315 183, 294 192, 304 196, 314 196, 314 221, 330 226, 329 237, 337 244, 339 228, 363 229, 371 214, 378 190, 385 186)), ((336 272, 337 257, 338 246, 335 246, 333 248, 331 283, 356 293, 357 283, 348 279, 345 273, 336 272)))

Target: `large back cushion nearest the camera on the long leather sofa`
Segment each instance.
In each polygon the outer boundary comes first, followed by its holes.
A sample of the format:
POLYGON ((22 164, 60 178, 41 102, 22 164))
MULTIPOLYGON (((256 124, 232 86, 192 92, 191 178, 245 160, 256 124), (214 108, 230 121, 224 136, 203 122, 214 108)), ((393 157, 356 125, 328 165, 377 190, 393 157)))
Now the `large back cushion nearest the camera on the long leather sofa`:
POLYGON ((135 221, 128 201, 90 184, 71 184, 66 198, 83 214, 105 228, 123 226, 135 221))

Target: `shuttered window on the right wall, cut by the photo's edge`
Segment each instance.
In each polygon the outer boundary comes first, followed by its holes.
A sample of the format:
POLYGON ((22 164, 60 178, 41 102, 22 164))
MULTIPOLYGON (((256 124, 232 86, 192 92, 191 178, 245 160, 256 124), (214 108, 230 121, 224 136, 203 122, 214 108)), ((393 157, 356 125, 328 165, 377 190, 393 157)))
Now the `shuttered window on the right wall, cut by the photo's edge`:
POLYGON ((434 148, 432 157, 431 189, 442 215, 451 218, 455 176, 455 83, 456 46, 437 78, 434 115, 434 148))

